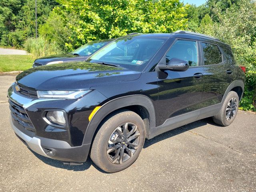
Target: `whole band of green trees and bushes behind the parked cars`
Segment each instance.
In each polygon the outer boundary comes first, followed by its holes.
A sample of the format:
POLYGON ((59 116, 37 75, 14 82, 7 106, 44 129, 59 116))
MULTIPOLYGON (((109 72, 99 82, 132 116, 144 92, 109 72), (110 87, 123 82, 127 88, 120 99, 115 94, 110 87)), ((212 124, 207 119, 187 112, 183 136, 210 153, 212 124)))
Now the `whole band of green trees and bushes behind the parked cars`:
POLYGON ((34 0, 0 1, 0 46, 25 46, 34 57, 40 57, 132 32, 200 32, 232 46, 238 63, 247 67, 240 106, 256 110, 255 0, 206 0, 198 7, 179 0, 37 2, 39 38, 35 39, 34 0))

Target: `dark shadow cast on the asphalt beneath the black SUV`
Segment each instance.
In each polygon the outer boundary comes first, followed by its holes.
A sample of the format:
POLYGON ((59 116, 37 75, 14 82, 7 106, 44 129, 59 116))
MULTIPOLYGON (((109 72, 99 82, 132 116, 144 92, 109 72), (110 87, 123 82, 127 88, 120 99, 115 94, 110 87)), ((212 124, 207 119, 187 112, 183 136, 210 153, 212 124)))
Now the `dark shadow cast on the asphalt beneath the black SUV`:
MULTIPOLYGON (((185 126, 170 130, 168 132, 165 132, 163 134, 160 134, 150 140, 146 140, 144 143, 143 148, 147 148, 148 146, 151 146, 152 144, 155 144, 159 141, 165 140, 167 138, 170 138, 172 136, 176 136, 178 134, 181 134, 183 132, 192 130, 194 128, 198 128, 200 126, 204 126, 206 124, 212 124, 215 126, 218 126, 217 124, 215 124, 212 121, 212 118, 206 118, 203 120, 198 120, 196 122, 187 124, 185 126)), ((63 162, 59 161, 59 160, 54 160, 51 158, 47 158, 45 156, 42 156, 40 154, 37 154, 36 152, 30 150, 38 159, 40 159, 42 162, 44 162, 45 164, 48 164, 50 166, 54 166, 56 168, 62 168, 62 169, 66 169, 66 170, 72 170, 72 171, 84 171, 90 168, 90 166, 94 166, 94 168, 96 168, 98 171, 102 172, 102 173, 107 173, 104 172, 103 170, 101 170, 100 168, 98 168, 91 160, 90 156, 88 156, 86 162, 84 162, 82 165, 69 165, 69 164, 63 164, 63 162)), ((107 173, 108 174, 108 173, 107 173)))

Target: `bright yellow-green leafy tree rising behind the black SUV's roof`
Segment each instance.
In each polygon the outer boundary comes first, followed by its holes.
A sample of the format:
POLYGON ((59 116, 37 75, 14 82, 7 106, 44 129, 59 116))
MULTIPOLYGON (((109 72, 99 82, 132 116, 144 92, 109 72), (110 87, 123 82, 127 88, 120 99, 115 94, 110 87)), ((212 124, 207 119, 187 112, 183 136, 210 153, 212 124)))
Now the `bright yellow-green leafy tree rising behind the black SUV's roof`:
POLYGON ((185 7, 179 0, 57 2, 61 6, 56 7, 55 12, 72 31, 66 42, 69 49, 92 40, 116 38, 131 32, 173 32, 184 29, 187 21, 185 7), (70 17, 67 16, 70 15, 76 18, 75 22, 69 20, 70 17))

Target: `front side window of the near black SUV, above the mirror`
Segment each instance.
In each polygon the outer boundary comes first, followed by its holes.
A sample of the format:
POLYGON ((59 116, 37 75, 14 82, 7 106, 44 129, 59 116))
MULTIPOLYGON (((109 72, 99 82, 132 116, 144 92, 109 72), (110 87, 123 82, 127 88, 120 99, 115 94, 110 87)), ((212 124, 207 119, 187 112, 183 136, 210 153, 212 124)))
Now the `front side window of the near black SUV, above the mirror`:
POLYGON ((198 51, 195 41, 177 40, 166 53, 166 64, 172 58, 188 61, 190 66, 198 66, 198 51))

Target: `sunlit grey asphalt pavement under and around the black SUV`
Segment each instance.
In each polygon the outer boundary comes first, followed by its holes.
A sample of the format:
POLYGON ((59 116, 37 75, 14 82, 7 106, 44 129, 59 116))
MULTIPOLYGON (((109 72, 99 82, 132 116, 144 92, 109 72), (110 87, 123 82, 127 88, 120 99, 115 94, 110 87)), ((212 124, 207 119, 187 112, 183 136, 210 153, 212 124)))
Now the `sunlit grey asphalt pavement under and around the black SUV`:
POLYGON ((0 192, 2 191, 256 191, 256 115, 239 111, 228 127, 210 118, 146 140, 126 170, 107 174, 88 159, 63 165, 30 151, 10 128, 0 76, 0 192))

